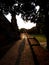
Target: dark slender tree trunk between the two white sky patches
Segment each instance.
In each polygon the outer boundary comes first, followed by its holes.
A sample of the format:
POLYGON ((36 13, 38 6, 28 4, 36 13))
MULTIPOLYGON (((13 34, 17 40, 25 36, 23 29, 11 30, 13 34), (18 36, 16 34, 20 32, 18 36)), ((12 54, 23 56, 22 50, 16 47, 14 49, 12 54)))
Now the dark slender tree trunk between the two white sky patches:
POLYGON ((18 26, 17 26, 16 15, 14 13, 12 13, 11 23, 12 23, 12 26, 14 28, 14 32, 16 33, 16 38, 17 39, 20 38, 20 32, 19 32, 19 29, 18 29, 18 26))

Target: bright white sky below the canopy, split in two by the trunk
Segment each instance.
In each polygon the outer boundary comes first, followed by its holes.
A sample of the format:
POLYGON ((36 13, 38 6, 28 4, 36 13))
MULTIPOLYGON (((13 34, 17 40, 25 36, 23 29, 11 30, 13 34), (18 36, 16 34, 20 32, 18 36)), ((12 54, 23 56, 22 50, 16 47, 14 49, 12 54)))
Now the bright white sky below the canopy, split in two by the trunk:
MULTIPOLYGON (((8 15, 5 15, 5 17, 9 20, 9 22, 11 22, 11 14, 10 13, 8 15)), ((31 22, 30 20, 28 20, 27 22, 24 21, 21 18, 21 14, 16 15, 16 19, 17 19, 17 25, 18 25, 19 29, 21 29, 21 28, 31 29, 36 26, 36 23, 31 22)))

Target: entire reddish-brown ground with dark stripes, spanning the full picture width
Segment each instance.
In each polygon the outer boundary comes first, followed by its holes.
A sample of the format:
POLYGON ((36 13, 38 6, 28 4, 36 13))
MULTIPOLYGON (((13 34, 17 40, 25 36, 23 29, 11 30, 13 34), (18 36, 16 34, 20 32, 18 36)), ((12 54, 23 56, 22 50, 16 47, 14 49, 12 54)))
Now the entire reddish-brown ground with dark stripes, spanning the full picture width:
POLYGON ((49 65, 49 52, 35 38, 23 35, 0 59, 0 65, 49 65))

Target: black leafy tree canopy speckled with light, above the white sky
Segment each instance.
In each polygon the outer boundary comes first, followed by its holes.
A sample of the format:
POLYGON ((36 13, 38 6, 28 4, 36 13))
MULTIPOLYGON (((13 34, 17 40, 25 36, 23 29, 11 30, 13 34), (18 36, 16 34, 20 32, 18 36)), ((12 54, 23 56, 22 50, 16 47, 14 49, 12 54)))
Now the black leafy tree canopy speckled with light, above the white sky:
MULTIPOLYGON (((48 0, 0 0, 0 11, 3 14, 15 13, 22 14, 24 20, 36 22, 41 11, 45 12, 49 7, 48 0), (40 7, 40 11, 37 11, 40 7)), ((42 12, 42 13, 43 13, 42 12)))

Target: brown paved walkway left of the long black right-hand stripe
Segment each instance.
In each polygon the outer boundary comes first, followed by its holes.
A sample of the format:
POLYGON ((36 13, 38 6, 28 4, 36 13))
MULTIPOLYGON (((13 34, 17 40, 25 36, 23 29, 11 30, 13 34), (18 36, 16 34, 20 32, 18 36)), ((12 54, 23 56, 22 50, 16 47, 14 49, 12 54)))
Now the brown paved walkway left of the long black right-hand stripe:
POLYGON ((34 65, 27 40, 19 40, 0 60, 0 65, 34 65))

